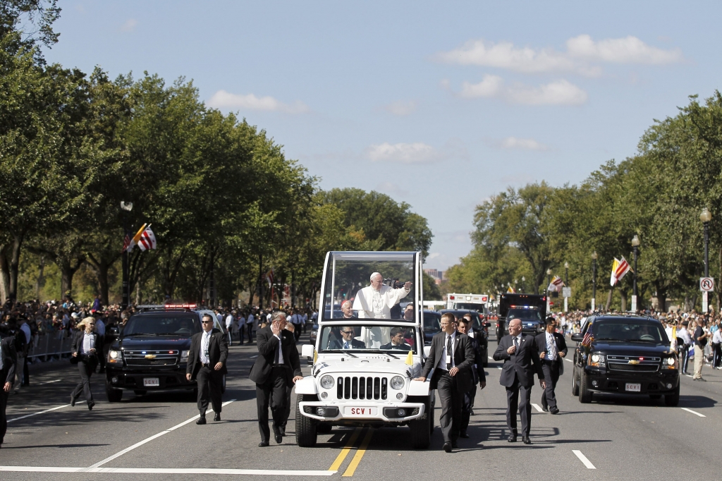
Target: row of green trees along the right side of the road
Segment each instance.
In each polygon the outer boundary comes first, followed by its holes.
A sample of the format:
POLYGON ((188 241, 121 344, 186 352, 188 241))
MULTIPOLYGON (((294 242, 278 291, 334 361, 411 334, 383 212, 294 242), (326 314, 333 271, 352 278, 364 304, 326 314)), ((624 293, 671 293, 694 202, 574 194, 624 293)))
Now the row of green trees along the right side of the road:
MULTIPOLYGON (((722 272, 722 95, 703 102, 691 96, 677 116, 655 121, 622 162, 610 160, 578 185, 544 181, 508 188, 479 204, 471 253, 448 269, 456 292, 541 293, 548 274, 565 279, 569 265, 571 306, 589 308, 592 254, 598 256, 596 306, 628 308, 632 277, 609 285, 614 257, 633 264, 638 249, 640 308, 667 300, 700 308, 704 273, 703 222, 709 209, 710 276, 722 272), (522 278, 524 281, 522 282, 522 278)), ((711 300, 720 306, 720 290, 711 300)))

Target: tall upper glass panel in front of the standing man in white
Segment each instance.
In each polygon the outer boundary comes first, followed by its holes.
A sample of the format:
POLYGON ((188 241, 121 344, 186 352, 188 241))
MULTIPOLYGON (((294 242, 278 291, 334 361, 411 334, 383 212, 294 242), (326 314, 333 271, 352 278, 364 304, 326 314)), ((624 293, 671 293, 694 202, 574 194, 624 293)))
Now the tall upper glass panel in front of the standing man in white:
POLYGON ((331 252, 323 293, 323 319, 391 319, 414 322, 416 259, 404 252, 331 252), (409 282, 410 285, 406 285, 409 282), (411 303, 401 308, 401 303, 411 303))

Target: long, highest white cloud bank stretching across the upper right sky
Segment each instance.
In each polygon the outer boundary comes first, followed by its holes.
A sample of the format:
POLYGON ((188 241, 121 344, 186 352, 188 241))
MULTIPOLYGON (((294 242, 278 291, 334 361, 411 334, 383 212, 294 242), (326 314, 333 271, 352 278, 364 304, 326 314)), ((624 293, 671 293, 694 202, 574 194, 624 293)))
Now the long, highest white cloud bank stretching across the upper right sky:
POLYGON ((439 53, 436 58, 448 64, 488 66, 522 74, 568 71, 587 77, 601 74, 601 67, 591 62, 661 65, 684 60, 679 48, 652 47, 631 35, 598 41, 589 35, 578 35, 568 39, 566 46, 566 51, 557 51, 517 47, 511 42, 469 40, 461 47, 439 53))

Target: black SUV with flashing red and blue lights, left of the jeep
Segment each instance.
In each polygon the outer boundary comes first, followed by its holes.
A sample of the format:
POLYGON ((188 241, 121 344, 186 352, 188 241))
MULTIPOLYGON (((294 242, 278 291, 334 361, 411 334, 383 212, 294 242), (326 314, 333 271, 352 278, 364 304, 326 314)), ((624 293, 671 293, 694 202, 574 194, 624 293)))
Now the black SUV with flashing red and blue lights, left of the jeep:
MULTIPOLYGON (((214 329, 225 332, 213 311, 193 304, 138 306, 108 351, 105 394, 118 402, 123 390, 143 395, 148 391, 194 390, 186 380, 191 337, 201 332, 201 318, 209 314, 214 329)), ((223 376, 222 391, 225 391, 223 376)))

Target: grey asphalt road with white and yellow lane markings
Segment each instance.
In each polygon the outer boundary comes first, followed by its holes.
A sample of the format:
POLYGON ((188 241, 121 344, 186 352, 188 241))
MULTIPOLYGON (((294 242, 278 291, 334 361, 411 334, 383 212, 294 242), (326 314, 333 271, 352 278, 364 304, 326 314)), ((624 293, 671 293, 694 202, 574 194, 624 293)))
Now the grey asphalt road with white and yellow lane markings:
MULTIPOLYGON (((494 348, 492 341, 490 351, 494 348)), ((411 449, 408 428, 339 428, 319 436, 316 448, 301 449, 295 445, 292 421, 284 443, 258 448, 255 391, 247 378, 254 355, 255 345, 231 347, 223 420, 205 426, 194 423, 195 400, 188 394, 126 393, 122 402, 109 404, 97 376, 93 386, 97 405, 88 412, 82 403, 68 404, 77 382, 70 365, 35 376, 30 389, 10 398, 0 470, 14 471, 2 472, 0 479, 142 481, 201 475, 204 480, 227 480, 270 475, 299 480, 326 476, 416 481, 511 476, 659 480, 714 479, 719 472, 722 412, 717 404, 722 399, 722 371, 708 366, 703 372, 708 382, 682 379, 679 407, 664 407, 661 400, 648 397, 595 397, 591 404, 580 404, 571 396, 571 369, 567 369, 557 387, 562 412, 554 416, 535 410, 534 444, 524 446, 505 441, 500 364, 490 361, 487 389, 477 394, 471 418, 471 438, 459 440, 461 449, 446 454, 441 451, 438 411, 428 450, 411 449), (20 399, 25 402, 23 409, 18 407, 20 399), (27 471, 18 472, 17 467, 27 471), (78 468, 85 470, 58 472, 78 468)), ((539 405, 540 397, 537 387, 532 402, 539 405)))

